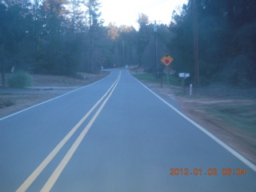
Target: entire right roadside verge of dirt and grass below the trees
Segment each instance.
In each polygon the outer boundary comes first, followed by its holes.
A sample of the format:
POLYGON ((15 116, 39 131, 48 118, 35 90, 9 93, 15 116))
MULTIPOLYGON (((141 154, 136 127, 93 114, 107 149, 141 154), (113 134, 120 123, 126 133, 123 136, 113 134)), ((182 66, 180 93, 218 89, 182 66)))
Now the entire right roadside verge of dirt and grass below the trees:
POLYGON ((178 102, 182 113, 256 164, 256 91, 226 86, 181 94, 179 86, 141 80, 155 93, 178 102))

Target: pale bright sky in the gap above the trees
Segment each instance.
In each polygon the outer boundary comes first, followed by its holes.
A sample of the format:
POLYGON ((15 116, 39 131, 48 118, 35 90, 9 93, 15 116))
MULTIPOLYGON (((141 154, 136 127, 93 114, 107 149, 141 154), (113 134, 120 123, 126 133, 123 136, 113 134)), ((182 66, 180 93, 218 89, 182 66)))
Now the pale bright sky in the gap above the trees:
POLYGON ((100 0, 102 17, 108 25, 114 22, 117 26, 134 26, 138 30, 138 14, 146 14, 150 22, 159 21, 170 24, 173 10, 182 7, 188 0, 100 0))

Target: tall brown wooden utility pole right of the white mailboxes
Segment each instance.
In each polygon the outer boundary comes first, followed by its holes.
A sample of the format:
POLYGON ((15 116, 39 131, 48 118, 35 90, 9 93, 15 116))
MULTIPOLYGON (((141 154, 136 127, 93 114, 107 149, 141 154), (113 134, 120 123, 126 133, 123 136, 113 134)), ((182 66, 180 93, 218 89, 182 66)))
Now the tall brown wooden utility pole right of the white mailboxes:
POLYGON ((198 64, 198 8, 197 1, 192 0, 194 18, 194 85, 199 86, 199 64, 198 64))

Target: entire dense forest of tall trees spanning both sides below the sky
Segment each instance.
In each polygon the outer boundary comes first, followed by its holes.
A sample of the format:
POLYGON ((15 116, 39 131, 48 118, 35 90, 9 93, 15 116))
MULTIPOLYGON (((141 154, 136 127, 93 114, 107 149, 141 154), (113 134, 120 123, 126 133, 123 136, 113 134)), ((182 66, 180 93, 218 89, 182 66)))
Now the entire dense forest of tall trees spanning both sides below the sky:
POLYGON ((256 12, 253 0, 193 0, 173 12, 170 25, 138 15, 134 26, 106 26, 98 0, 0 1, 0 64, 34 74, 76 76, 100 68, 138 65, 155 72, 160 59, 194 80, 194 13, 198 30, 199 82, 256 86, 256 12), (195 1, 195 6, 192 2, 195 1), (157 32, 154 32, 157 27, 157 32), (157 42, 157 44, 155 44, 157 42), (157 45, 157 46, 155 46, 157 45))

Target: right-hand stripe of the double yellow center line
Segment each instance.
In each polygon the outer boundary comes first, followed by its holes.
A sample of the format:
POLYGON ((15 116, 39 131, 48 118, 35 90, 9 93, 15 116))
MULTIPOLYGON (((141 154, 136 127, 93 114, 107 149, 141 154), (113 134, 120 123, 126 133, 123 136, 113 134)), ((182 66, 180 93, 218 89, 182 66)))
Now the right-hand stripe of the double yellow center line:
MULTIPOLYGON (((120 78, 118 78, 119 81, 120 78)), ((94 124, 94 121, 96 118, 98 118, 98 114, 101 113, 103 107, 106 105, 106 102, 109 100, 110 96, 113 94, 115 87, 118 85, 118 82, 116 82, 113 90, 111 90, 108 97, 102 102, 102 105, 98 108, 96 114, 94 114, 94 117, 91 118, 90 122, 87 124, 84 130, 82 130, 82 133, 78 136, 74 144, 70 147, 70 150, 66 153, 65 157, 62 159, 62 162, 59 163, 56 170, 54 170, 54 173, 51 174, 50 178, 46 182, 45 186, 42 187, 41 192, 47 192, 50 191, 50 189, 54 186, 54 183, 57 181, 59 175, 62 173, 62 170, 64 170, 66 164, 70 161, 70 158, 72 158, 74 152, 78 149, 78 146, 82 142, 82 139, 86 136, 86 133, 88 130, 90 130, 90 127, 94 124)))

